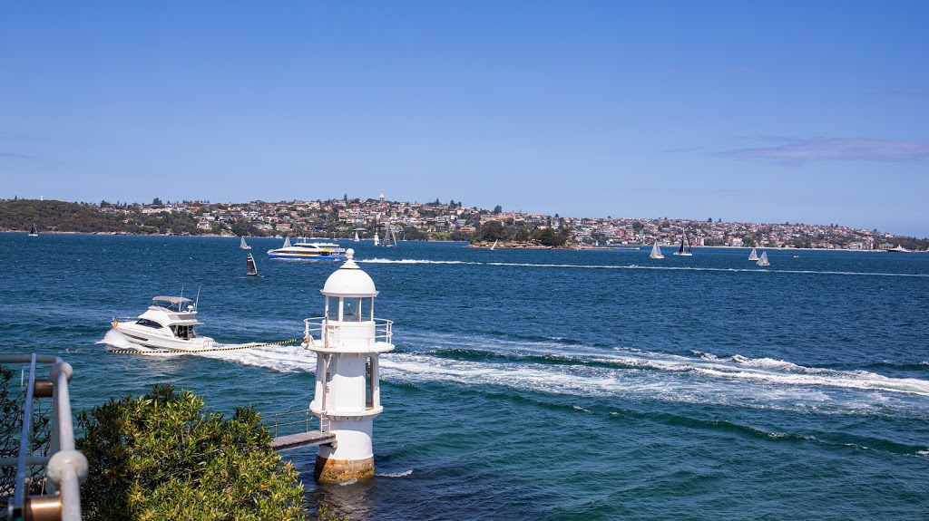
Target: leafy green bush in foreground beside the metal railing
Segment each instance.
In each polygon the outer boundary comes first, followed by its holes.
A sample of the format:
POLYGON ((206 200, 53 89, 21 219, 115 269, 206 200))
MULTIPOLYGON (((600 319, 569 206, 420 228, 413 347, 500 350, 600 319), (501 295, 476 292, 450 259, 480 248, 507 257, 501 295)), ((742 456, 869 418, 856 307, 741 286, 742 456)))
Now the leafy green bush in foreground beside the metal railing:
POLYGON ((254 408, 203 413, 203 399, 170 385, 78 415, 90 464, 88 519, 307 518, 303 485, 270 446, 254 408))

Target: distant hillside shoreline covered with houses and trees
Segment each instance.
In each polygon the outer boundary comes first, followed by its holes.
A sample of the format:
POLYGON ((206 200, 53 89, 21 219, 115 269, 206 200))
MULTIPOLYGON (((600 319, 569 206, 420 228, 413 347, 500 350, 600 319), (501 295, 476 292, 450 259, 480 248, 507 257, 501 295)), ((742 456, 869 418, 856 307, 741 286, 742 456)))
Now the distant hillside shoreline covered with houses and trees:
POLYGON ((451 200, 403 202, 379 198, 326 200, 162 201, 140 203, 68 203, 35 199, 0 201, 0 230, 23 231, 35 224, 40 233, 136 235, 248 235, 371 238, 390 226, 400 240, 471 241, 489 222, 513 236, 551 229, 574 245, 677 244, 686 232, 694 246, 830 248, 888 250, 902 246, 926 250, 929 240, 839 224, 724 222, 721 219, 567 217, 492 210, 451 200))

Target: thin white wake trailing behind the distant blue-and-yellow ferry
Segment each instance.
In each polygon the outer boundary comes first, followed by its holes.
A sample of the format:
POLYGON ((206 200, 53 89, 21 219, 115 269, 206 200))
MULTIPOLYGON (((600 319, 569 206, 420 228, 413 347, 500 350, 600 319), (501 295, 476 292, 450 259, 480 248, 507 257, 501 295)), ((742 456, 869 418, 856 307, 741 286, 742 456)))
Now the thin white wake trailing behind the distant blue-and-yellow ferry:
POLYGON ((641 266, 630 264, 628 266, 604 264, 548 264, 532 262, 478 262, 478 261, 428 261, 420 259, 365 259, 356 262, 373 264, 470 264, 478 266, 512 266, 519 268, 570 268, 579 270, 659 270, 670 272, 726 272, 726 273, 793 273, 815 275, 850 275, 850 276, 876 276, 876 277, 916 277, 929 278, 929 273, 869 273, 869 272, 834 272, 816 270, 778 270, 758 268, 703 268, 697 266, 641 266))

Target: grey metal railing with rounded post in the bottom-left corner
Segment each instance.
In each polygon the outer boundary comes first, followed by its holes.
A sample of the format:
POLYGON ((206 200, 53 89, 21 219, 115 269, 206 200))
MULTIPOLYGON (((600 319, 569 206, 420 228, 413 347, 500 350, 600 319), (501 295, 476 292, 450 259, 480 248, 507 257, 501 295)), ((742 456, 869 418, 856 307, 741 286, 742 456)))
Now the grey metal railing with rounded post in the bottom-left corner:
POLYGON ((87 459, 74 450, 74 425, 68 382, 73 369, 57 356, 36 354, 0 355, 0 363, 28 363, 29 378, 26 399, 22 406, 22 430, 19 454, 16 458, 0 458, 0 466, 15 466, 16 485, 7 504, 8 518, 79 521, 81 519, 81 481, 87 477, 87 459), (37 363, 51 364, 48 378, 36 376, 37 363), (48 456, 33 452, 33 401, 51 398, 51 439, 48 456), (29 493, 33 466, 46 470, 46 494, 29 493))

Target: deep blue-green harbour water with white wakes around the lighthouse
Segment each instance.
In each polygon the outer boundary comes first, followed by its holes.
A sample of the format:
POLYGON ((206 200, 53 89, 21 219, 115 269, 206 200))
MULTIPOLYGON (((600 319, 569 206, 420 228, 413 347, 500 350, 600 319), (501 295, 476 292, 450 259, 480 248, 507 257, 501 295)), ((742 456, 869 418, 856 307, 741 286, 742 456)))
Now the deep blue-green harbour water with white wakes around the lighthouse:
MULTIPOLYGON (((299 348, 109 353, 113 316, 193 297, 236 344, 300 337, 338 264, 237 238, 0 234, 4 351, 75 369, 76 409, 171 381, 219 411, 311 399, 299 348)), ((352 519, 925 519, 929 255, 356 247, 395 321, 378 477, 319 487, 352 519)))

